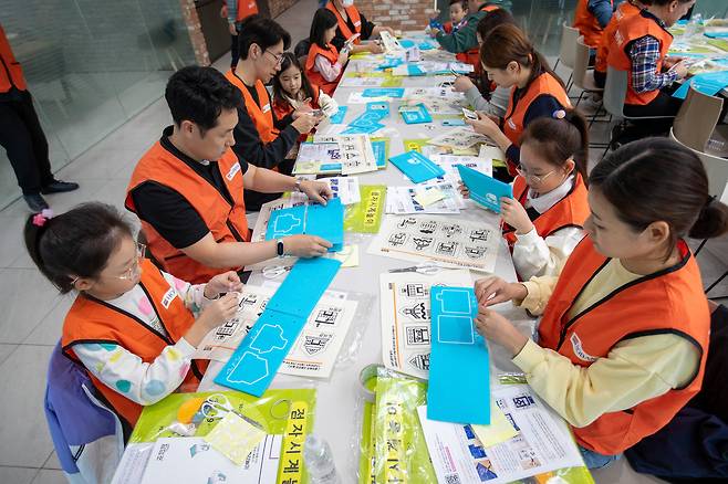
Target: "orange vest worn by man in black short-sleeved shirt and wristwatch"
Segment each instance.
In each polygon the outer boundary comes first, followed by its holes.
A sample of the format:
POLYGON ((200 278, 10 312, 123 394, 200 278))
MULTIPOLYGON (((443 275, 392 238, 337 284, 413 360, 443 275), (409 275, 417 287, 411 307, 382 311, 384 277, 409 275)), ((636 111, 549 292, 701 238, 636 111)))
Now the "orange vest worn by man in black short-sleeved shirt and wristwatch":
MULTIPOLYGON (((126 189, 125 206, 137 213, 132 191, 146 181, 153 181, 181 194, 202 218, 216 242, 248 242, 250 238, 240 161, 228 148, 217 164, 228 192, 232 197, 232 206, 211 183, 157 141, 136 165, 126 189)), ((201 284, 217 274, 242 269, 240 266, 208 267, 176 249, 144 220, 142 230, 147 238, 149 251, 162 269, 183 281, 201 284)))

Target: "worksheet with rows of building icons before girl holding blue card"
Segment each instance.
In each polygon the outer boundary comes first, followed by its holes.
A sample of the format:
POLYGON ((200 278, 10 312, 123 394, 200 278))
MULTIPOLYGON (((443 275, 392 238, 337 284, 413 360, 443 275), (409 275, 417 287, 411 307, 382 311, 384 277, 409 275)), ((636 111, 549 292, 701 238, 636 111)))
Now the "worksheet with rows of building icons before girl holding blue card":
POLYGON ((492 272, 500 238, 500 230, 486 222, 454 221, 437 215, 387 215, 367 252, 492 272))

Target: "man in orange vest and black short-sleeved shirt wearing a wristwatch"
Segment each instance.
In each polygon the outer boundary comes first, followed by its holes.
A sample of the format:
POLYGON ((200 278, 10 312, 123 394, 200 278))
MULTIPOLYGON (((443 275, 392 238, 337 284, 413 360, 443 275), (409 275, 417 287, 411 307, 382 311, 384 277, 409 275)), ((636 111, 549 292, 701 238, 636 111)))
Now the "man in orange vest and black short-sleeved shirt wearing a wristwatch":
POLYGON ((332 193, 324 182, 298 180, 236 156, 240 91, 212 67, 189 66, 169 78, 165 97, 174 125, 137 164, 125 202, 142 220, 148 249, 165 272, 202 283, 283 253, 325 253, 331 244, 311 235, 250 242, 248 188, 300 190, 321 203, 332 193))

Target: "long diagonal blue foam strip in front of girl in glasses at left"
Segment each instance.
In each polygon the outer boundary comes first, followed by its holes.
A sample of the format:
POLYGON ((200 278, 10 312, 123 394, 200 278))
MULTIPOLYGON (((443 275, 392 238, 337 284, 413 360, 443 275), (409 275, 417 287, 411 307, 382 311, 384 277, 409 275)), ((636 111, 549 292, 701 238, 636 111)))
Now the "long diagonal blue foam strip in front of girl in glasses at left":
POLYGON ((334 259, 299 260, 215 382, 263 394, 340 266, 334 259))

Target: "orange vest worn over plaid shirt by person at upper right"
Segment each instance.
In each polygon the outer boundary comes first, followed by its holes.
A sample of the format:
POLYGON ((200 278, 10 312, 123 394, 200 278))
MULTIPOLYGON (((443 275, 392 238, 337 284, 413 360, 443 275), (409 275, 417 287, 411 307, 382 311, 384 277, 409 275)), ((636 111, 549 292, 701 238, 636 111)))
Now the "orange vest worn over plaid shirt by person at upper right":
POLYGON ((637 93, 632 88, 632 59, 627 50, 634 41, 646 35, 651 35, 659 42, 659 59, 655 67, 655 72, 659 73, 663 70, 663 61, 673 43, 673 34, 657 23, 652 14, 645 14, 645 11, 642 11, 638 15, 624 19, 620 22, 610 40, 610 53, 606 63, 616 70, 627 71, 627 93, 624 97, 624 104, 644 106, 659 94, 659 90, 637 93))

